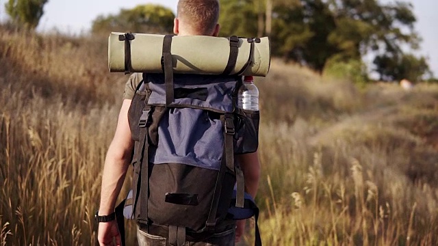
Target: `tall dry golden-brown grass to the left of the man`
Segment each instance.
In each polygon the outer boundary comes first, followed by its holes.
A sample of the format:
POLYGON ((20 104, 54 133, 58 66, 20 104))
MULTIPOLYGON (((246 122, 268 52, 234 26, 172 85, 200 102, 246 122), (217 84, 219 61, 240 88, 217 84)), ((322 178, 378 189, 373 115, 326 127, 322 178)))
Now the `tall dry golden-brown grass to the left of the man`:
POLYGON ((102 67, 102 58, 86 55, 97 52, 80 42, 14 31, 0 39, 0 215, 8 245, 95 243, 91 218, 118 112, 103 69, 99 77, 81 74, 102 67))

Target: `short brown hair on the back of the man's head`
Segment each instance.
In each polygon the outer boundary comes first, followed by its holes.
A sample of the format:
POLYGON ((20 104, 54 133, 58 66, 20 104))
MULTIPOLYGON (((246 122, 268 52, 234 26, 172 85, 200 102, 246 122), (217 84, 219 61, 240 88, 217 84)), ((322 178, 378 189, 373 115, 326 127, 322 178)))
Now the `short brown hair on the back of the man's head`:
POLYGON ((194 31, 209 35, 219 19, 218 0, 179 0, 177 18, 183 19, 194 31))

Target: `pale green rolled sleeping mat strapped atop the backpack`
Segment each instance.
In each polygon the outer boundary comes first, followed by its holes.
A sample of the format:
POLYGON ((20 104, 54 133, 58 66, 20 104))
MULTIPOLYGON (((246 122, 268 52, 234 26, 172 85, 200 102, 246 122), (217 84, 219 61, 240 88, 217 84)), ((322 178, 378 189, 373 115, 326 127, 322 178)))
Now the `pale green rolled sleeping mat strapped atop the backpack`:
MULTIPOLYGON (((164 35, 146 33, 110 34, 108 67, 110 72, 163 72, 164 35)), ((241 74, 265 77, 270 67, 270 42, 265 38, 218 38, 211 36, 173 36, 170 53, 175 73, 241 74), (230 49, 237 46, 237 57, 230 49), (231 44, 231 45, 230 45, 231 44)))

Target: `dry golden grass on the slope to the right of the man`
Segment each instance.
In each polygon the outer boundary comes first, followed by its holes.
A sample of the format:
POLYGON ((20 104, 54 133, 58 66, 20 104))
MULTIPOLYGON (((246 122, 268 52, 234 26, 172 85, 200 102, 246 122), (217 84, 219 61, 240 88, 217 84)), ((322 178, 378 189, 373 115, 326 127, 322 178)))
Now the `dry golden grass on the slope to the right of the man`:
POLYGON ((265 243, 437 244, 438 87, 352 90, 319 77, 299 81, 297 68, 284 66, 259 83, 273 97, 268 113, 292 105, 261 125, 265 243), (276 72, 289 81, 269 90, 276 72), (303 113, 293 106, 299 100, 303 113))

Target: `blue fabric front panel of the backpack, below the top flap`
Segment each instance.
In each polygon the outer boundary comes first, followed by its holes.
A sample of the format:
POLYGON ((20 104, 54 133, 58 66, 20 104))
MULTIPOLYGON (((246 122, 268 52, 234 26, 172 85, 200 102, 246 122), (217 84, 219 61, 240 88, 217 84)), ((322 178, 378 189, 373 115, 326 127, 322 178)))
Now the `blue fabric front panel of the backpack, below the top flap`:
POLYGON ((156 148, 149 146, 149 161, 218 170, 224 140, 217 115, 202 109, 169 109, 159 122, 156 148))

